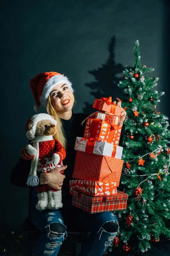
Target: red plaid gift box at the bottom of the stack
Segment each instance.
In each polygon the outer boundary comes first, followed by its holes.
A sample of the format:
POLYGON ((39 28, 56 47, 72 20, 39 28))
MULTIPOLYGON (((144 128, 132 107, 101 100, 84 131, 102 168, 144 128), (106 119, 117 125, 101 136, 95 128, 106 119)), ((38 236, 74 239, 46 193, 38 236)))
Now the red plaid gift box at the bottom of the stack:
POLYGON ((120 191, 102 197, 92 197, 76 190, 72 194, 72 205, 89 213, 121 211, 127 207, 128 195, 120 191))

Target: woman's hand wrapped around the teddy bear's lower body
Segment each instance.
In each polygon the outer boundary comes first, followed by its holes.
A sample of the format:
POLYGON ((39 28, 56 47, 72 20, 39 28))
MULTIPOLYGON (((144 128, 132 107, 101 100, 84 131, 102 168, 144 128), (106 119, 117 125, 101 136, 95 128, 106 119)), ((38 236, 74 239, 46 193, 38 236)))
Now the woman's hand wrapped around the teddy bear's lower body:
POLYGON ((53 189, 61 190, 65 175, 62 175, 60 172, 65 170, 66 168, 67 166, 62 166, 52 170, 51 172, 42 173, 40 175, 40 184, 48 184, 53 189))

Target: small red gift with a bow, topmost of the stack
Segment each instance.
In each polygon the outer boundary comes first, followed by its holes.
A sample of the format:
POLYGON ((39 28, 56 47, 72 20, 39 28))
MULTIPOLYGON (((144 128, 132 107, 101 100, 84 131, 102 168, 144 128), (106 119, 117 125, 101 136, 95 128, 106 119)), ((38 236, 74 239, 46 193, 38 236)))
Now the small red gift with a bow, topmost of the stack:
POLYGON ((120 116, 123 110, 123 108, 117 107, 115 104, 113 104, 111 97, 95 99, 93 108, 105 111, 107 113, 112 113, 115 116, 120 116))

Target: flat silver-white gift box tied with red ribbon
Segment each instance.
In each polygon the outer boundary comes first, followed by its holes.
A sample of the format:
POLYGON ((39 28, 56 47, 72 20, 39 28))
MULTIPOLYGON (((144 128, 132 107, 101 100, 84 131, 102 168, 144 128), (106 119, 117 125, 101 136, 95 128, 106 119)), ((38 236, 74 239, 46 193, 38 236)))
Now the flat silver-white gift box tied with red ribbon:
POLYGON ((76 138, 76 143, 74 149, 77 151, 99 154, 108 157, 114 157, 117 159, 122 158, 123 147, 116 146, 114 144, 104 142, 84 139, 82 137, 76 138))

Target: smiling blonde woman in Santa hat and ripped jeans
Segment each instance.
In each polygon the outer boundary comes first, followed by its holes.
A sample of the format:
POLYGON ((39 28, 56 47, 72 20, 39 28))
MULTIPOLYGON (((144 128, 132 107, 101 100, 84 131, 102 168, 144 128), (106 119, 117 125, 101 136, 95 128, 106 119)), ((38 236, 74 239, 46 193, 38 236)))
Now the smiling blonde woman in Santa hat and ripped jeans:
MULTIPOLYGON (((36 102, 34 109, 40 110, 41 105, 46 107, 48 114, 57 121, 57 133, 54 135, 54 139, 57 139, 66 149, 66 157, 63 160, 65 166, 53 169, 49 173, 41 173, 38 184, 38 186, 47 184, 58 190, 62 188, 63 207, 53 211, 49 209, 39 211, 35 207, 38 201, 37 188, 34 188, 31 197, 31 220, 41 233, 35 245, 34 256, 56 256, 66 237, 66 227, 70 227, 71 224, 72 227, 76 226, 82 231, 91 232, 88 240, 82 244, 79 256, 102 256, 119 230, 116 215, 114 212, 90 214, 73 207, 71 205, 72 196, 69 193, 69 180, 72 179, 76 157, 75 140, 76 137, 83 137, 85 123, 84 125, 80 124, 87 118, 87 115, 73 113, 74 90, 67 77, 56 72, 41 73, 31 79, 30 86, 36 102), (64 175, 61 174, 63 170, 65 170, 64 175)), ((115 102, 115 104, 121 107, 121 102, 115 102)), ((122 111, 119 125, 122 125, 125 116, 126 112, 122 111)), ((121 138, 123 138, 124 129, 125 126, 122 127, 121 138)), ((121 138, 119 145, 122 145, 121 138)), ((45 159, 44 161, 46 164, 45 159)), ((20 159, 11 174, 12 183, 26 186, 29 170, 30 166, 20 159)))

